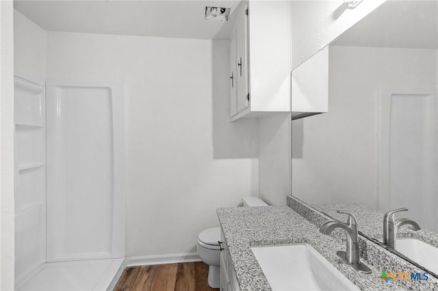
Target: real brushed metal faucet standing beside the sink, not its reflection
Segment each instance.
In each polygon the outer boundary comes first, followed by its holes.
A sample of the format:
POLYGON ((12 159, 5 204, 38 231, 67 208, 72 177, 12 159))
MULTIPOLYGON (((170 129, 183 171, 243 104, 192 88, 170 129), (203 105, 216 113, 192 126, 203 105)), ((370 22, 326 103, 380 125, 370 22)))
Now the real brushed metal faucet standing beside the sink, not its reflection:
POLYGON ((322 232, 322 234, 330 235, 335 228, 342 228, 347 238, 347 249, 346 251, 337 251, 337 255, 342 258, 342 260, 350 264, 357 271, 367 274, 371 273, 370 268, 361 263, 359 260, 359 245, 357 243, 357 219, 355 215, 348 212, 340 212, 339 210, 337 210, 337 213, 347 214, 347 223, 328 221, 321 226, 320 232, 322 232))

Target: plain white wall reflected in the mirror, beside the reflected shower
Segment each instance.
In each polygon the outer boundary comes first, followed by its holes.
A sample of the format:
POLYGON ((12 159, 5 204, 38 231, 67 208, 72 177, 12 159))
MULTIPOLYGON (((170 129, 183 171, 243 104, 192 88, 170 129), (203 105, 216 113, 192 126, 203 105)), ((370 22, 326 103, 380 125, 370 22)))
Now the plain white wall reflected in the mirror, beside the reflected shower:
POLYGON ((292 122, 292 193, 378 208, 381 90, 435 92, 435 50, 330 46, 329 112, 292 122))

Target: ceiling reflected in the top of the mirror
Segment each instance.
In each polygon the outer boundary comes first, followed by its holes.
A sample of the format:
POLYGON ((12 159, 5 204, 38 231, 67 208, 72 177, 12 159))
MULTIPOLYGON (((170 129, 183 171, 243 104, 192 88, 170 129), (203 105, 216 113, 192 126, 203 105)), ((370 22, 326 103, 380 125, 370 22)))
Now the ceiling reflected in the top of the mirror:
POLYGON ((438 48, 438 1, 387 1, 332 44, 438 48))

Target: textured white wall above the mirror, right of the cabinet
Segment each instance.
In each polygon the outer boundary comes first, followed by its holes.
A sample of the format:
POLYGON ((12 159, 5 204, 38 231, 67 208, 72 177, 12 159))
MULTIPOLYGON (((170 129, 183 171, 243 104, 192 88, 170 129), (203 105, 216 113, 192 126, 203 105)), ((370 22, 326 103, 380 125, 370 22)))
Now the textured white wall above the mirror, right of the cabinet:
POLYGON ((344 0, 292 1, 292 68, 387 0, 364 0, 348 9, 344 0))

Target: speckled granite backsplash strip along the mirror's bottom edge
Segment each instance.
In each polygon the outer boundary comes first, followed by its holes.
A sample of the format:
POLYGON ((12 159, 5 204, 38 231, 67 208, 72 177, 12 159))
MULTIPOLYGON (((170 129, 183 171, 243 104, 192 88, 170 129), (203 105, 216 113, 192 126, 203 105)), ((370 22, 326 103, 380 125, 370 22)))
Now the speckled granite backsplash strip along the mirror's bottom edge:
MULTIPOLYGON (((322 225, 329 217, 320 210, 316 210, 313 206, 309 206, 299 199, 292 196, 287 196, 287 206, 296 210, 302 217, 309 220, 311 223, 318 227, 322 225)), ((336 208, 336 210, 339 208, 336 208)), ((342 209, 339 209, 342 210, 342 209)), ((345 210, 345 209, 344 209, 345 210)), ((350 211, 349 211, 350 212, 350 211)), ((336 213, 336 212, 335 212, 336 213)), ((337 215, 342 215, 338 214, 337 215)), ((344 214, 345 215, 345 214, 344 214)), ((345 219, 345 217, 339 217, 339 220, 345 219)), ((382 219, 383 220, 383 219, 382 219)), ((359 221, 359 219, 358 219, 359 221)), ((411 232, 411 231, 410 231, 411 232)), ((332 232, 332 236, 341 240, 346 240, 345 234, 342 232, 332 232)), ((376 245, 371 240, 359 236, 359 252, 361 259, 364 262, 368 262, 368 266, 375 268, 376 270, 385 270, 387 273, 392 272, 409 272, 409 273, 424 273, 424 269, 419 268, 406 260, 403 260, 398 255, 383 249, 376 245)), ((438 279, 429 276, 428 281, 400 281, 399 282, 404 289, 407 290, 438 290, 438 279)))

